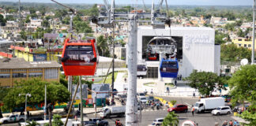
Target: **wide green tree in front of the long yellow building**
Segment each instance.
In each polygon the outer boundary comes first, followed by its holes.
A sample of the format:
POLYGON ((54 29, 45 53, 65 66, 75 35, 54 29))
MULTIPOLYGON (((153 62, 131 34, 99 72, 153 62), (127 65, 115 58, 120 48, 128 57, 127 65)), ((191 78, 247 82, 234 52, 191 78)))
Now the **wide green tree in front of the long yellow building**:
POLYGON ((30 93, 32 97, 28 98, 31 105, 44 102, 44 86, 47 84, 47 102, 67 102, 70 98, 70 92, 66 87, 57 82, 45 82, 40 79, 21 80, 15 83, 15 87, 9 89, 8 94, 3 98, 4 107, 13 109, 17 106, 24 106, 24 97, 19 94, 30 93))

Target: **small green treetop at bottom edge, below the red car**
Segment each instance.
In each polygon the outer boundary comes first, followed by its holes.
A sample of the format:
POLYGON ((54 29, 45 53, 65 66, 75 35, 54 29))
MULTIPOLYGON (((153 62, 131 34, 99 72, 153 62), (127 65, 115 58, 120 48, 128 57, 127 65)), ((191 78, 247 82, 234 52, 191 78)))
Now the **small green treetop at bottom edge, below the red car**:
POLYGON ((163 126, 178 126, 178 124, 178 115, 176 115, 174 112, 168 113, 168 115, 164 117, 163 126))

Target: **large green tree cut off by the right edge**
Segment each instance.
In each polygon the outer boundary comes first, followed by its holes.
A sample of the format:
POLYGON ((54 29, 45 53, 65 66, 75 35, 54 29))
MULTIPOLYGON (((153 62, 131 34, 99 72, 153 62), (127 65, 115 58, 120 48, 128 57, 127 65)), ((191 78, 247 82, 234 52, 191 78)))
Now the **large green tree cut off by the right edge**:
POLYGON ((250 107, 241 115, 250 121, 249 125, 256 125, 256 65, 244 65, 228 80, 231 89, 232 104, 250 102, 250 107))

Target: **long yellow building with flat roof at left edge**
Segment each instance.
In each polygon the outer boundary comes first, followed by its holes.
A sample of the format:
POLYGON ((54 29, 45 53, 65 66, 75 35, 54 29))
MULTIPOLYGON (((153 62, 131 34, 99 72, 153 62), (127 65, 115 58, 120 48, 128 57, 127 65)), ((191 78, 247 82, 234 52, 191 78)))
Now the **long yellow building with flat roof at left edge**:
POLYGON ((60 65, 57 61, 28 62, 24 58, 0 59, 0 86, 13 87, 15 82, 38 77, 59 82, 60 65))

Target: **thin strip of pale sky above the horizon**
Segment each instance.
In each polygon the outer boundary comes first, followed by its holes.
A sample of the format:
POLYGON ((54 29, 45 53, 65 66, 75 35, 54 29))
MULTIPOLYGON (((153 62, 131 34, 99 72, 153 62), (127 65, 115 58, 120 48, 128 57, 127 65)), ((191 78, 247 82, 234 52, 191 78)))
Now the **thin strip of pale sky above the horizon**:
MULTIPOLYGON (((61 3, 103 3, 104 0, 55 0, 61 3)), ((144 0, 145 4, 151 4, 152 0, 144 0)), ((155 0, 158 3, 159 0, 155 0)), ((254 0, 168 0, 168 5, 184 6, 252 6, 254 0)), ((0 2, 18 2, 18 0, 0 0, 0 2)), ((51 0, 21 0, 21 2, 50 2, 51 0)), ((108 0, 111 3, 111 0, 108 0)), ((115 0, 116 4, 142 4, 142 0, 115 0)))

